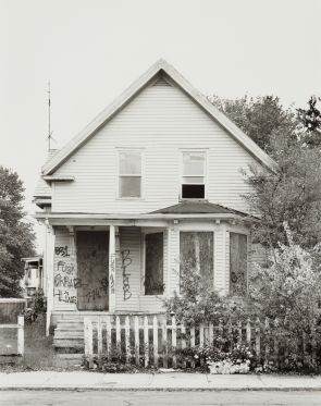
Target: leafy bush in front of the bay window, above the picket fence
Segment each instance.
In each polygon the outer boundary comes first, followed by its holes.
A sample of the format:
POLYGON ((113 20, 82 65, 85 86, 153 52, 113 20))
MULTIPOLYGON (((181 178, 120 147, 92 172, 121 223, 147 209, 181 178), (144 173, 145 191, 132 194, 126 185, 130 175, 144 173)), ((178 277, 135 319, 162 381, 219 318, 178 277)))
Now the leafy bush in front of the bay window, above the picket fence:
POLYGON ((243 302, 221 296, 202 276, 192 261, 181 263, 181 295, 165 300, 168 315, 175 313, 187 325, 220 321, 225 324, 245 315, 243 302))

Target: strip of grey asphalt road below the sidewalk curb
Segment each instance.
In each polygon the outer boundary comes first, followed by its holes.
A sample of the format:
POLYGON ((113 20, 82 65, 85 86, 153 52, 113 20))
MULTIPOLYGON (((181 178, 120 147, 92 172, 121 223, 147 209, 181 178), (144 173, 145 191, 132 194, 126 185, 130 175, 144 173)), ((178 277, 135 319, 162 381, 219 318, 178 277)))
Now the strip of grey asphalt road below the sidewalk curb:
POLYGON ((0 391, 1 406, 321 405, 321 392, 0 391))

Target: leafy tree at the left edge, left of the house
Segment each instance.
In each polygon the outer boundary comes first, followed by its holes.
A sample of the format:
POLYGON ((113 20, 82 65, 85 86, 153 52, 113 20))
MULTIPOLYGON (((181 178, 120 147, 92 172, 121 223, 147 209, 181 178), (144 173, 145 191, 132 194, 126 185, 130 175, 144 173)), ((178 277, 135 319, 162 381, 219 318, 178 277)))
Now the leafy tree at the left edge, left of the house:
POLYGON ((35 235, 24 219, 24 187, 17 173, 0 167, 0 296, 20 294, 21 258, 34 255, 35 235))

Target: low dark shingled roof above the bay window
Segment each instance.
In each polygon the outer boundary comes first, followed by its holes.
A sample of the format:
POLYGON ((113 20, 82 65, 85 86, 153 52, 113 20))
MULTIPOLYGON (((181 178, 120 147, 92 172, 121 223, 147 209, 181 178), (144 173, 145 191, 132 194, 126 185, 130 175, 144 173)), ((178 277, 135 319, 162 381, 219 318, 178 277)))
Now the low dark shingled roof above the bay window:
POLYGON ((182 201, 178 205, 152 211, 150 214, 237 214, 248 217, 242 211, 201 200, 182 201))

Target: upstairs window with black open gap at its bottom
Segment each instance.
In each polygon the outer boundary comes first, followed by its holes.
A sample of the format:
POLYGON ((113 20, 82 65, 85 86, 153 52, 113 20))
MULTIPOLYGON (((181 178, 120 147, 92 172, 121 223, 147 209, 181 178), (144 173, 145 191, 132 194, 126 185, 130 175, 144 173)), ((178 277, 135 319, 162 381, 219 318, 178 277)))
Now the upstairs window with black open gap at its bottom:
POLYGON ((206 195, 206 152, 184 151, 182 190, 183 199, 203 199, 206 195))

